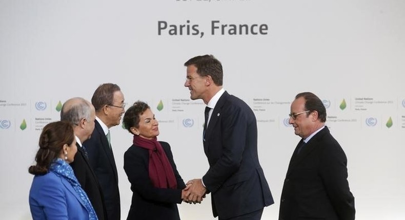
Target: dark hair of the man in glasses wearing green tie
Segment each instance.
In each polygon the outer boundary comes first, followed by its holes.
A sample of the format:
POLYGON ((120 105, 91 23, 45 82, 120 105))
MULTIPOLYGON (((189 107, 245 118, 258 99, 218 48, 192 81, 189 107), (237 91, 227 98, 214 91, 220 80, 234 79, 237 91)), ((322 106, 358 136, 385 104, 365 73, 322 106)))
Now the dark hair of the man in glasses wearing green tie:
POLYGON ((99 85, 91 98, 95 111, 98 112, 104 105, 112 105, 116 91, 121 91, 117 84, 104 83, 99 85))

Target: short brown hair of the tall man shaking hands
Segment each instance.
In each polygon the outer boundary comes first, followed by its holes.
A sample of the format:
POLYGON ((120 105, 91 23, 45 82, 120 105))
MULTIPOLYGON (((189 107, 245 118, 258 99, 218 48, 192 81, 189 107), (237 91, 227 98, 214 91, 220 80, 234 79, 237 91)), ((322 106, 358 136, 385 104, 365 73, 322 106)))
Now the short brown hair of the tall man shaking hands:
POLYGON ((216 85, 222 85, 222 64, 213 55, 196 56, 184 63, 187 67, 194 65, 199 76, 211 76, 216 85))

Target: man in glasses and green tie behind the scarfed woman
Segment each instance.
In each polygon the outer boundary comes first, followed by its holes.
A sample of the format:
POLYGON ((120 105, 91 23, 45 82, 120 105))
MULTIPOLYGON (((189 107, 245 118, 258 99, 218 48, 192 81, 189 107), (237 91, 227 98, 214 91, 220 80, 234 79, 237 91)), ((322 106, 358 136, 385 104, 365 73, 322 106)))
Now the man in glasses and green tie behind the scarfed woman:
POLYGON ((83 146, 90 166, 103 190, 108 220, 120 219, 118 173, 110 142, 110 128, 120 123, 125 112, 124 94, 118 85, 105 83, 97 87, 91 98, 96 112, 95 128, 91 139, 83 146))

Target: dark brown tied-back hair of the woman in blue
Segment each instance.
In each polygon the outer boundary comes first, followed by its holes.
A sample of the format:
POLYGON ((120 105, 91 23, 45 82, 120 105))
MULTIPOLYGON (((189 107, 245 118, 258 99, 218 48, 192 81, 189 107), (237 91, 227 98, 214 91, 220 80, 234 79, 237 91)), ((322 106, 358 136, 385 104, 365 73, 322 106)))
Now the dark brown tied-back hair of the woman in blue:
POLYGON ((39 136, 39 149, 36 152, 36 164, 30 166, 28 172, 44 175, 51 163, 60 155, 63 145, 73 143, 73 127, 69 122, 56 121, 45 125, 39 136))

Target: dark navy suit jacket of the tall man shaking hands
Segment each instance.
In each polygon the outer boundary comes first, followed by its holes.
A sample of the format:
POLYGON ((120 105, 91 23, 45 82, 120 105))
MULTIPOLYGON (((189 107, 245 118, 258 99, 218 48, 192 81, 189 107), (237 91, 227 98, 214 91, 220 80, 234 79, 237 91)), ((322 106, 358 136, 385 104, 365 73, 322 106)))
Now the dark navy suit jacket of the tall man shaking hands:
POLYGON ((227 92, 213 109, 204 137, 210 168, 202 178, 212 192, 214 217, 230 218, 273 204, 257 155, 252 109, 227 92))

